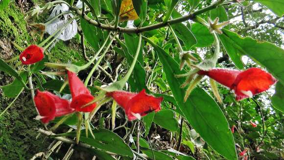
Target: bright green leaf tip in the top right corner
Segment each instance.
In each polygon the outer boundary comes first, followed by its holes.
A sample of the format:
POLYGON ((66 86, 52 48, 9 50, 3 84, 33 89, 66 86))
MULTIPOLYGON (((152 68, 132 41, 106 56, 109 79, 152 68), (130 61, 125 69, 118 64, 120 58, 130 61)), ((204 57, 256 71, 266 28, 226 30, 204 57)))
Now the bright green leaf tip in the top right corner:
POLYGON ((254 0, 265 5, 272 12, 274 12, 278 17, 284 15, 284 0, 254 0))

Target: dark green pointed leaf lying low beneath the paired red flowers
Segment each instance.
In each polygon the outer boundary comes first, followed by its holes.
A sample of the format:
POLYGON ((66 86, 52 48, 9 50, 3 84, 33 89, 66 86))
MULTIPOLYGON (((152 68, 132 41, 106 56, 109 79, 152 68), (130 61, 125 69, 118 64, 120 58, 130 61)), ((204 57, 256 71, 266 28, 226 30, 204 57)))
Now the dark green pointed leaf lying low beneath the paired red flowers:
MULTIPOLYGON (((117 134, 113 133, 110 130, 103 129, 103 128, 94 129, 92 131, 95 136, 95 139, 93 137, 85 137, 86 131, 82 130, 80 141, 87 143, 95 148, 104 150, 104 151, 116 153, 121 156, 133 157, 133 153, 130 147, 117 134)), ((76 137, 76 132, 74 131, 74 132, 69 132, 65 134, 57 134, 55 136, 56 137, 57 136, 76 137)))

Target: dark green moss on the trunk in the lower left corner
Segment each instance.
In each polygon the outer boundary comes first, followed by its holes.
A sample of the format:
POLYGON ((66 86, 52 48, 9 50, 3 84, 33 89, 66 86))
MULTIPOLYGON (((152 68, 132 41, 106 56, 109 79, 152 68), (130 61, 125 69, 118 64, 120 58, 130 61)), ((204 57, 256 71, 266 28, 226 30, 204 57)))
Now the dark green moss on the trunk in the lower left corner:
MULTIPOLYGON (((0 98, 3 111, 11 100, 0 98)), ((44 137, 36 139, 35 128, 41 123, 34 120, 36 112, 31 98, 22 93, 14 105, 0 117, 0 160, 26 160, 34 154, 45 151, 44 137)), ((49 142, 48 142, 49 143, 49 142)))

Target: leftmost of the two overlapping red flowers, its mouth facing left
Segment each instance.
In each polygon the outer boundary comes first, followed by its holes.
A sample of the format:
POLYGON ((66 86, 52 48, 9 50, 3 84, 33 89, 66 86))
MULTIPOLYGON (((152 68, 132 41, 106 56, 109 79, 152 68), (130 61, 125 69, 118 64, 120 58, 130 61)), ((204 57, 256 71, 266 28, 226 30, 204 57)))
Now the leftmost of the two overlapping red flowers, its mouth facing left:
POLYGON ((70 108, 70 102, 48 91, 37 91, 34 97, 36 108, 39 111, 43 123, 48 123, 57 116, 70 114, 74 109, 70 108))

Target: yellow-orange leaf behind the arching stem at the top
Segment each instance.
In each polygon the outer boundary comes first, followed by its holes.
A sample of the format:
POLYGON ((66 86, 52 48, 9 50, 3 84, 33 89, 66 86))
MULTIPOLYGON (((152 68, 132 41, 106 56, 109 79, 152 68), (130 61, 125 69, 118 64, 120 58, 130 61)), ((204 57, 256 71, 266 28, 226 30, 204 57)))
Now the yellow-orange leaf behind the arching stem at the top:
POLYGON ((119 10, 119 21, 131 21, 137 20, 138 18, 132 0, 122 0, 119 10))

